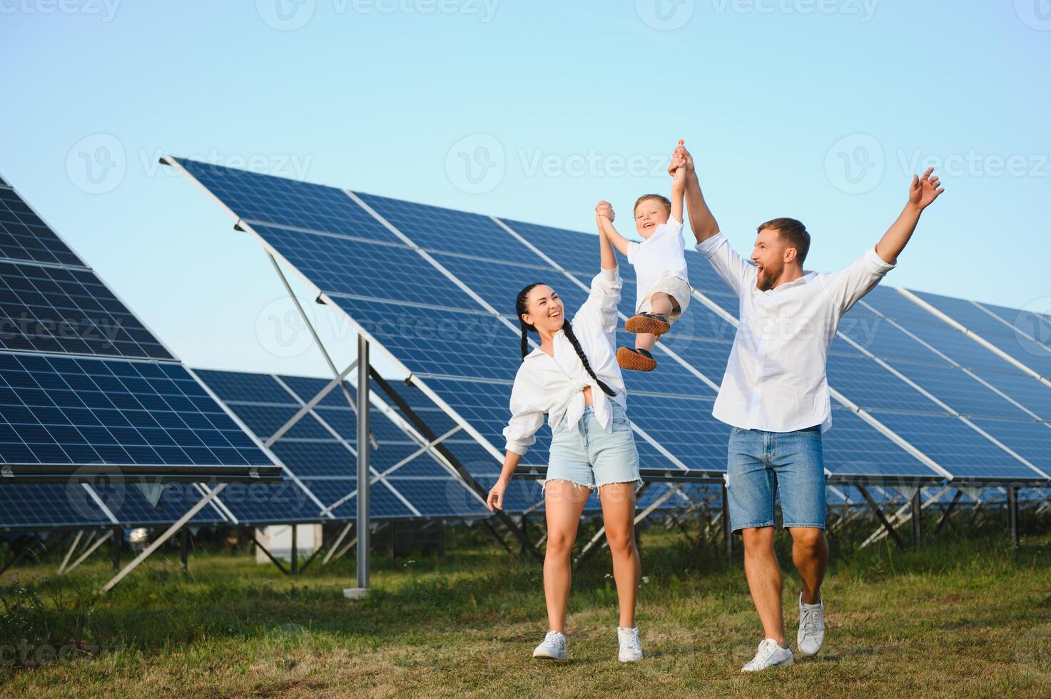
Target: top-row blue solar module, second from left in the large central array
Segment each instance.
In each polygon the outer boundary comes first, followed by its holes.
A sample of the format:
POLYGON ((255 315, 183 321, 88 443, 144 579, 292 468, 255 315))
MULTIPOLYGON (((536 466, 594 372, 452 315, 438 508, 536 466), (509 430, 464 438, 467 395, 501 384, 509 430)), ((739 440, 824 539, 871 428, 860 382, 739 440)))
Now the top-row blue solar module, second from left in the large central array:
MULTIPOLYGON (((356 192, 366 204, 425 250, 522 262, 535 253, 489 217, 356 192)), ((595 239, 598 250, 598 239, 595 239)))

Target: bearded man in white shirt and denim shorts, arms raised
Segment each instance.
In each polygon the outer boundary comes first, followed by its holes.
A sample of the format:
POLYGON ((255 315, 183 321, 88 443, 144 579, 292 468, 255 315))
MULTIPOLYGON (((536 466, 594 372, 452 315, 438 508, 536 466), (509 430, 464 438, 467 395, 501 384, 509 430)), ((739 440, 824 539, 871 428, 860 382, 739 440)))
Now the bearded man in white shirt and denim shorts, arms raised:
MULTIPOLYGON (((805 272, 810 235, 794 219, 759 226, 751 261, 730 248, 708 210, 684 148, 686 208, 697 250, 740 296, 740 325, 713 415, 733 427, 727 451, 729 515, 744 539, 748 590, 764 639, 742 670, 791 664, 774 554, 774 498, 792 538, 802 578, 797 651, 811 656, 825 636, 821 582, 828 564, 821 434, 831 426, 825 365, 840 318, 894 268, 920 214, 944 191, 933 168, 913 176, 909 199, 874 248, 837 273, 805 272)), ((675 156, 673 160, 675 160, 675 156)))

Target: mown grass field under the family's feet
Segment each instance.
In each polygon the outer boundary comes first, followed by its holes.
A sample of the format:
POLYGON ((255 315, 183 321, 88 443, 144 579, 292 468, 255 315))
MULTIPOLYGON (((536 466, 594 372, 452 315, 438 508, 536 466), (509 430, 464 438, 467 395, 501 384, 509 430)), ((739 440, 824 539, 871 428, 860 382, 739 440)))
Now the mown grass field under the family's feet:
POLYGON ((742 675, 761 633, 740 551, 647 531, 634 664, 616 660, 616 592, 595 557, 574 580, 571 659, 540 664, 540 571, 474 532, 440 560, 377 557, 355 602, 351 557, 290 578, 245 553, 192 556, 188 575, 157 555, 104 597, 104 556, 68 578, 8 571, 0 696, 1051 696, 1051 536, 1021 551, 998 532, 908 550, 833 539, 822 654, 742 675))

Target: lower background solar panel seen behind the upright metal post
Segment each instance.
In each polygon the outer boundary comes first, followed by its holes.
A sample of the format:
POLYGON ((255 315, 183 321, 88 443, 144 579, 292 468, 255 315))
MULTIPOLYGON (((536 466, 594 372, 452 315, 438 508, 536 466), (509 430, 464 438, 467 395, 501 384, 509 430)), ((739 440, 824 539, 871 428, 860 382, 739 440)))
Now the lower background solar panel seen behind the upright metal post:
MULTIPOLYGON (((212 370, 197 373, 262 440, 269 439, 330 383, 307 376, 212 370)), ((349 384, 345 386, 356 400, 356 392, 349 384)), ((378 443, 378 449, 372 448, 369 456, 373 478, 384 476, 371 487, 370 516, 390 519, 488 514, 461 480, 429 454, 418 453, 420 443, 382 411, 370 411, 370 428, 378 443)), ((274 455, 303 484, 296 496, 321 502, 312 512, 306 503, 296 507, 296 517, 301 517, 297 521, 328 519, 323 512, 328 510, 333 518, 356 516, 356 498, 347 497, 357 488, 356 430, 356 414, 343 390, 335 387, 271 445, 274 455)), ((280 507, 263 512, 263 506, 269 502, 255 503, 250 510, 227 502, 225 494, 221 497, 239 518, 262 516, 273 520, 281 514, 280 507)))

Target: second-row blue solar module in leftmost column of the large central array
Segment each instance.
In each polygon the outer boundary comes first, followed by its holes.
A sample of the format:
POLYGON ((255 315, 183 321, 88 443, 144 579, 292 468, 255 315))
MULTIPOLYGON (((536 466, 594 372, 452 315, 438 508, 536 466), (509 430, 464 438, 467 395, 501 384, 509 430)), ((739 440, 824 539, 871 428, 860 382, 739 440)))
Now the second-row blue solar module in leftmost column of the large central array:
POLYGON ((252 230, 326 293, 476 308, 461 289, 408 246, 257 223, 252 230), (382 274, 372 271, 380 269, 382 274))

